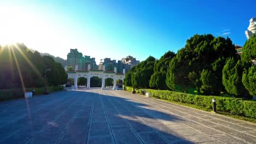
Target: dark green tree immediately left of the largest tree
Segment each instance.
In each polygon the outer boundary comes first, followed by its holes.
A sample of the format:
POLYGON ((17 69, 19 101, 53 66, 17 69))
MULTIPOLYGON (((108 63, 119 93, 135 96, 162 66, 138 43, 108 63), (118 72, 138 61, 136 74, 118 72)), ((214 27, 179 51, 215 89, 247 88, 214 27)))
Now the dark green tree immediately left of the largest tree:
POLYGON ((156 89, 166 90, 168 86, 165 83, 166 72, 169 67, 169 63, 176 54, 172 51, 166 52, 159 60, 155 61, 154 74, 151 75, 149 86, 156 89))

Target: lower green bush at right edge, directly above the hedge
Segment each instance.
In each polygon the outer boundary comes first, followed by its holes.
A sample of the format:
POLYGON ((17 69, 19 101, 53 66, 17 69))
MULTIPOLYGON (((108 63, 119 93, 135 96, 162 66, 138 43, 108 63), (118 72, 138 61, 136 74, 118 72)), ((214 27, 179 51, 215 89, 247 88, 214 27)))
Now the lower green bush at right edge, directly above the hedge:
POLYGON ((256 65, 243 72, 242 82, 246 90, 252 96, 256 96, 256 65))

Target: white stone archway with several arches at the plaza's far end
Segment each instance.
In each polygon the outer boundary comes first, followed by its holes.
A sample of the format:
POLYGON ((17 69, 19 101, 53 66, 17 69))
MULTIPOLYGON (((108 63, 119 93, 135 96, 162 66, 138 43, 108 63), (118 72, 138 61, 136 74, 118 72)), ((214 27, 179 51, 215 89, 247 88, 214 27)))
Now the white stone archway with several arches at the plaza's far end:
POLYGON ((87 78, 87 88, 90 89, 90 81, 91 77, 101 77, 101 89, 105 88, 105 79, 106 78, 112 78, 114 80, 114 86, 113 90, 116 90, 116 83, 117 80, 124 80, 125 78, 125 69, 123 69, 123 73, 117 73, 116 72, 116 67, 114 72, 109 72, 109 71, 103 71, 103 70, 91 70, 90 67, 88 66, 88 71, 80 71, 80 70, 75 70, 75 71, 66 71, 68 78, 74 78, 74 88, 77 89, 77 79, 79 77, 85 77, 87 78))

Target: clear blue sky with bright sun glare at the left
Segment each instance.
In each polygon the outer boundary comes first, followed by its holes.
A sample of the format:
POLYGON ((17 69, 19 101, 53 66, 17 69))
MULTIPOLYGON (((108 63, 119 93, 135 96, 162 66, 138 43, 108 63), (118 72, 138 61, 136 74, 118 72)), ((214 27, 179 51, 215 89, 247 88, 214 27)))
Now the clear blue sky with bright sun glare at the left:
POLYGON ((243 45, 255 0, 4 0, 0 43, 67 59, 70 48, 100 59, 159 59, 194 34, 230 37, 243 45), (2 41, 1 41, 2 40, 2 41))

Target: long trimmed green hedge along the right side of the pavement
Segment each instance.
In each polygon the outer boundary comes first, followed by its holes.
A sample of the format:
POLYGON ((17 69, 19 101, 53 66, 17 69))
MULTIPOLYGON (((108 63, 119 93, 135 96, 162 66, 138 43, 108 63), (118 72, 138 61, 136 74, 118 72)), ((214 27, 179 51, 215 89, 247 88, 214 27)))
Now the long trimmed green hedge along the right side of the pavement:
MULTIPOLYGON (((132 91, 133 88, 126 87, 126 91, 132 91)), ((226 112, 231 115, 241 115, 245 117, 256 118, 256 101, 242 100, 240 98, 229 98, 221 96, 202 96, 189 93, 180 93, 175 91, 162 91, 144 89, 151 93, 151 96, 178 101, 182 103, 195 104, 197 107, 212 109, 212 99, 216 99, 216 109, 218 112, 226 112)), ((142 89, 136 89, 136 93, 141 93, 142 89)))

